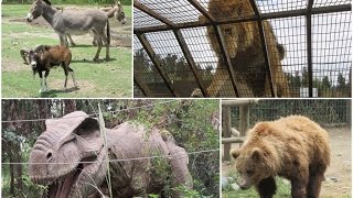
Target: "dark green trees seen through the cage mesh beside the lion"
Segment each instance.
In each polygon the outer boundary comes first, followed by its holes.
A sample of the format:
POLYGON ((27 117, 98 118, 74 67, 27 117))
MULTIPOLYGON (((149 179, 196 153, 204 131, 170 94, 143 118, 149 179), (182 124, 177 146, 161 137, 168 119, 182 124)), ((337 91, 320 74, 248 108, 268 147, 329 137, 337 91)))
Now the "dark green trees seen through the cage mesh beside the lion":
MULTIPOLYGON (((182 86, 186 87, 188 81, 193 82, 193 74, 190 73, 189 64, 186 63, 184 57, 180 57, 175 54, 167 54, 165 56, 158 56, 157 57, 168 73, 168 80, 169 84, 173 84, 176 86, 181 84, 182 86)), ((153 86, 157 92, 162 91, 162 87, 159 84, 163 84, 158 74, 156 67, 150 62, 148 55, 146 54, 143 48, 139 48, 135 51, 133 54, 133 65, 136 73, 141 73, 143 75, 149 76, 149 78, 145 78, 143 82, 150 86, 153 86), (153 85, 151 85, 153 84, 153 85)), ((211 79, 213 78, 214 73, 212 64, 207 65, 205 68, 202 68, 197 63, 196 67, 199 69, 202 79, 207 87, 211 84, 211 79)), ((349 72, 345 72, 347 74, 349 72)), ((313 79, 313 88, 318 89, 318 97, 349 97, 351 95, 351 73, 349 79, 344 77, 343 73, 339 74, 330 74, 330 76, 336 75, 336 78, 330 79, 329 76, 321 76, 315 75, 313 79)), ((303 97, 300 96, 300 88, 308 88, 309 87, 309 73, 308 68, 304 67, 302 72, 296 72, 295 74, 286 73, 287 81, 289 84, 289 88, 291 89, 292 97, 303 97)), ((194 82, 193 82, 194 84, 194 82)), ((191 89, 193 90, 193 89, 191 89)))

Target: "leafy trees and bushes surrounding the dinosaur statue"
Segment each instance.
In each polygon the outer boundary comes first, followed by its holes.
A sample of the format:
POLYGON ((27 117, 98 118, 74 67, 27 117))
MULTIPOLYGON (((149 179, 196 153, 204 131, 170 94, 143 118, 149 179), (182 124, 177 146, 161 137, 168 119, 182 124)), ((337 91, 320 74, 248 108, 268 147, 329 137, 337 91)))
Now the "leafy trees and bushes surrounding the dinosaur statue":
MULTIPOLYGON (((218 114, 217 100, 2 100, 3 120, 58 118, 75 110, 97 113, 97 103, 104 111, 106 128, 122 122, 139 122, 148 128, 168 130, 189 155, 189 169, 194 189, 183 190, 191 197, 218 197, 218 152, 192 153, 218 148, 218 132, 212 118, 218 114)), ((26 162, 36 138, 45 131, 44 120, 6 122, 2 124, 2 197, 40 197, 46 188, 32 184, 26 162), (23 163, 7 164, 7 163, 23 163)), ((153 161, 159 173, 169 167, 163 161, 153 161), (165 165, 165 166, 164 166, 165 165)), ((170 189, 164 189, 168 191, 170 189)), ((153 197, 153 195, 150 195, 153 197)))

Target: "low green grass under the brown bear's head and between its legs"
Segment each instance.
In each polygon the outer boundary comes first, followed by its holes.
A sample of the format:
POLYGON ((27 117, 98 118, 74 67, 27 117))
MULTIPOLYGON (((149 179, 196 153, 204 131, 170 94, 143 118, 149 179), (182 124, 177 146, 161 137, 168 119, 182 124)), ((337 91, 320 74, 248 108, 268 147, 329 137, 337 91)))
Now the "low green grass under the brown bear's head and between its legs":
MULTIPOLYGON (((237 178, 236 173, 229 173, 228 174, 233 178, 237 178)), ((277 191, 276 195, 274 196, 275 198, 290 198, 290 183, 286 184, 284 183, 284 179, 280 177, 276 178, 276 185, 277 185, 277 191)), ((250 198, 250 197, 259 197, 257 191, 255 190, 254 187, 252 187, 248 190, 223 190, 222 191, 222 197, 223 198, 250 198)))

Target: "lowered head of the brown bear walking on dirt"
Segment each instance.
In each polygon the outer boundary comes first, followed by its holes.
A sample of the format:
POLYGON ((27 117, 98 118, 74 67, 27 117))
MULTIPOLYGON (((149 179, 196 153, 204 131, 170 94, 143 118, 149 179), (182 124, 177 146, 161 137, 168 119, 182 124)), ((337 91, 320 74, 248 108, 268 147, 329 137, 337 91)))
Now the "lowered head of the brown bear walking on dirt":
POLYGON ((274 157, 261 146, 232 150, 231 154, 236 160, 235 166, 239 174, 236 183, 240 189, 248 189, 274 174, 276 164, 272 163, 274 157))

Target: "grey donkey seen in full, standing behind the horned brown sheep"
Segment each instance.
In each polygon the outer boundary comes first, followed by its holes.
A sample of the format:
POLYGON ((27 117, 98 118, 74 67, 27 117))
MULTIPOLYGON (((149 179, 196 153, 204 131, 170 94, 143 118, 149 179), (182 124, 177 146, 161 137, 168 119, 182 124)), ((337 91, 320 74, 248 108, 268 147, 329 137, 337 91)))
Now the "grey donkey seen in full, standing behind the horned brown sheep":
POLYGON ((54 31, 58 34, 61 45, 68 46, 66 35, 82 35, 92 31, 97 40, 98 50, 94 57, 95 62, 99 59, 99 53, 103 42, 106 45, 106 59, 109 61, 109 44, 110 29, 107 14, 99 9, 90 10, 57 10, 52 7, 49 0, 35 0, 32 4, 26 20, 32 22, 34 19, 42 15, 47 21, 54 31), (107 26, 107 34, 105 28, 107 26))

